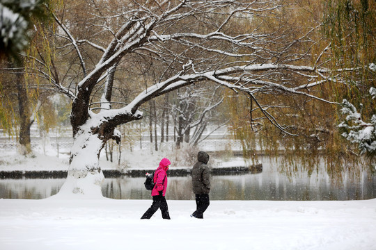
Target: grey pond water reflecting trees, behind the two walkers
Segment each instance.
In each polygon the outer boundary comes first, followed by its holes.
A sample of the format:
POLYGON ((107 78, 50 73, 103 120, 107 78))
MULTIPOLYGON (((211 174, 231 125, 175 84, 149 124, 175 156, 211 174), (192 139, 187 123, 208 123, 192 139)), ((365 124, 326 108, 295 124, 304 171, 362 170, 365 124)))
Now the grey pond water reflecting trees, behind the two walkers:
MULTIPOLYGON (((308 176, 298 172, 293 176, 281 174, 279 165, 262 158, 263 172, 212 176, 212 200, 352 200, 376 198, 376 176, 363 171, 357 178, 344 174, 343 181, 334 184, 325 172, 308 176)), ((0 180, 0 199, 43 199, 58 192, 64 178, 32 178, 0 180)), ((104 197, 113 199, 150 199, 143 187, 144 178, 121 176, 106 178, 102 185, 104 197)), ((194 199, 190 176, 169 177, 166 199, 194 199)))

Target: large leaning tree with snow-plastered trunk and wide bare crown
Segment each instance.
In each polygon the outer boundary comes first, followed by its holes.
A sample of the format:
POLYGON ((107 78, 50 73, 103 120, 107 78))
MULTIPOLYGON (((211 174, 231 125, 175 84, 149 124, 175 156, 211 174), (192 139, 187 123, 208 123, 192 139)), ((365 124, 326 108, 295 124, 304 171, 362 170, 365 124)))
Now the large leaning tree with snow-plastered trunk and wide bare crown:
POLYGON ((194 83, 209 81, 246 94, 265 119, 293 135, 271 112, 283 104, 260 97, 283 94, 330 103, 312 90, 329 84, 333 75, 306 60, 307 48, 314 42, 311 32, 290 34, 283 20, 283 2, 65 2, 55 13, 59 62, 51 68, 40 61, 38 68, 39 75, 72 99, 74 144, 61 192, 101 195, 100 151, 107 140, 120 140, 116 127, 142 119, 144 103, 194 83), (296 46, 299 43, 306 44, 304 49, 296 46), (116 80, 120 68, 135 71, 132 63, 142 60, 158 65, 150 81, 116 80), (292 76, 305 81, 294 81, 292 76), (116 88, 130 90, 121 103, 112 101, 116 88))

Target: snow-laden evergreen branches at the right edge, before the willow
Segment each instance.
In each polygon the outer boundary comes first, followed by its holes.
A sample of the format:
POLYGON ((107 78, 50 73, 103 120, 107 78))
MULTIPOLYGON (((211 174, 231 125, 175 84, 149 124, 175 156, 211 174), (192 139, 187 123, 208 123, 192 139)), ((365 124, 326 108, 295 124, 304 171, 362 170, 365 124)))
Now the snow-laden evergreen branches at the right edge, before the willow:
MULTIPOLYGON (((376 99, 376 89, 370 88, 370 96, 376 99)), ((370 122, 364 122, 361 113, 352 103, 343 99, 341 112, 346 115, 345 121, 338 127, 343 131, 344 138, 358 144, 361 154, 376 155, 376 115, 372 115, 370 122)))

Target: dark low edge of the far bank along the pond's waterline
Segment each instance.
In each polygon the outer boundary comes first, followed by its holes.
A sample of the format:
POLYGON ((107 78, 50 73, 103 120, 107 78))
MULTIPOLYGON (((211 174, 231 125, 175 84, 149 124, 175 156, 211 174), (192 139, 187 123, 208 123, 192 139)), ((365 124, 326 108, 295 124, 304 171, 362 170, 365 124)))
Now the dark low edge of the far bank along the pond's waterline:
MULTIPOLYGON (((120 176, 143 177, 147 172, 152 173, 155 169, 130 169, 121 172, 116 169, 103 170, 104 178, 116 178, 120 176)), ((252 165, 250 167, 218 167, 212 168, 212 175, 236 175, 236 174, 259 174, 263 172, 263 165, 252 165)), ((169 169, 169 176, 187 176, 191 169, 169 169)), ((0 171, 0 179, 21 179, 21 178, 66 178, 68 171, 65 170, 41 170, 41 171, 0 171)))

